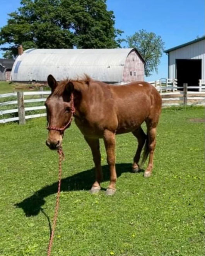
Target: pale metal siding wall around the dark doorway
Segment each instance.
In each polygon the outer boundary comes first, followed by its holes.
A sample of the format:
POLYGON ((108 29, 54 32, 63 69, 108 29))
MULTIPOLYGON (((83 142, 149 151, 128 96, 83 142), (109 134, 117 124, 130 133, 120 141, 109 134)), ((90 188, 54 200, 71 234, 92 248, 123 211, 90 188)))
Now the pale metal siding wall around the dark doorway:
POLYGON ((169 78, 176 78, 176 59, 202 59, 202 79, 205 80, 205 40, 169 52, 169 78))

